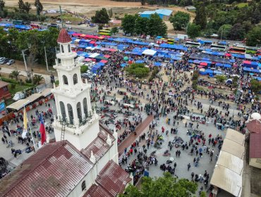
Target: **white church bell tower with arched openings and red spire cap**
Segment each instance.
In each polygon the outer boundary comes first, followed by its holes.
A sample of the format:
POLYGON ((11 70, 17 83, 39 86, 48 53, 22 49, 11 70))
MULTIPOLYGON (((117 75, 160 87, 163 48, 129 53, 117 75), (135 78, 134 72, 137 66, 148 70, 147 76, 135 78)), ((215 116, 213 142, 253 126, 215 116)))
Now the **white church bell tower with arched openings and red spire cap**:
POLYGON ((60 53, 54 68, 59 77, 59 87, 54 87, 57 119, 54 121, 56 141, 68 140, 81 150, 99 133, 99 116, 90 103, 90 84, 81 80, 77 54, 71 51, 71 37, 62 29, 57 42, 60 53))

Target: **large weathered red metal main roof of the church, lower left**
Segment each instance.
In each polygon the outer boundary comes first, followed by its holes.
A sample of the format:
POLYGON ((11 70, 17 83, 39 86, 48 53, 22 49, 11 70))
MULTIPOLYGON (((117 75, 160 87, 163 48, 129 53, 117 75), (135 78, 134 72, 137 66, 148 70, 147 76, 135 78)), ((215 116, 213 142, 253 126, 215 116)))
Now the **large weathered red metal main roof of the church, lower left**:
POLYGON ((68 141, 40 148, 0 182, 1 196, 67 196, 93 167, 68 141))

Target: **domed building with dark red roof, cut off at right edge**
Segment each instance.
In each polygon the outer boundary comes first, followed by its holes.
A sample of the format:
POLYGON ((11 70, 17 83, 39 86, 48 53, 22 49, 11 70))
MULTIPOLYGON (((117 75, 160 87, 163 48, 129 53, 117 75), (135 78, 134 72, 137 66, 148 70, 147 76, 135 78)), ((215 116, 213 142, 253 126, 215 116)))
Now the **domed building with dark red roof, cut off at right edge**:
POLYGON ((249 165, 261 169, 261 115, 251 114, 246 127, 250 133, 249 165))

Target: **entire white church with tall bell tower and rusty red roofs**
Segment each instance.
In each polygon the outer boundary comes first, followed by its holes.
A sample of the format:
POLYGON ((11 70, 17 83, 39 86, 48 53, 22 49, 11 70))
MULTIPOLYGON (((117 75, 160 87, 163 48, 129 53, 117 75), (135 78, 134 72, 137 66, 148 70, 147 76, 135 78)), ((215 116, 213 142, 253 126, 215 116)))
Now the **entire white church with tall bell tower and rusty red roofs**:
POLYGON ((117 133, 99 124, 90 84, 80 78, 71 37, 62 29, 54 87, 56 142, 42 146, 0 182, 1 196, 117 196, 132 183, 119 166, 117 133))

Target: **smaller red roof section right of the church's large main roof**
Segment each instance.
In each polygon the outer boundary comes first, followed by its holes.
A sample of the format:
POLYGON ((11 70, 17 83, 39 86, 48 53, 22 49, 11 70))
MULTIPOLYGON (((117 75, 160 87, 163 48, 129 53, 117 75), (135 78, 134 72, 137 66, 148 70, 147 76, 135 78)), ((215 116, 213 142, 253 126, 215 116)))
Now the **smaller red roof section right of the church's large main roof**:
POLYGON ((126 184, 130 181, 130 174, 114 163, 113 160, 110 160, 105 165, 96 179, 97 184, 106 189, 111 196, 117 196, 119 193, 122 193, 126 184))

